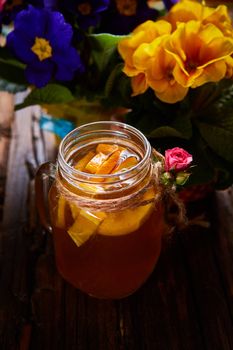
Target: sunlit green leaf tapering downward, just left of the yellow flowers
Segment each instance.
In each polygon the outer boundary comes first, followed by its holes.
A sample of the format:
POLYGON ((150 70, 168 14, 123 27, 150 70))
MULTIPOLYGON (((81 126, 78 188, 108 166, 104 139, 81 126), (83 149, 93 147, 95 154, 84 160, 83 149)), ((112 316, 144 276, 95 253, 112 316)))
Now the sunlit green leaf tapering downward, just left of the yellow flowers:
POLYGON ((102 72, 108 65, 111 56, 116 51, 117 44, 125 36, 112 34, 92 34, 89 35, 90 44, 92 46, 92 58, 102 72))

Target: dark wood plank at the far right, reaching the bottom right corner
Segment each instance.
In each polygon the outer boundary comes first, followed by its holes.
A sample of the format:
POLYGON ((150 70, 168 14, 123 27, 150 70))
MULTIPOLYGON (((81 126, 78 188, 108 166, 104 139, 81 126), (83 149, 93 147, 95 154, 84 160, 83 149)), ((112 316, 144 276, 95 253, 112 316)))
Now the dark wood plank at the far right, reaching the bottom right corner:
MULTIPOLYGON (((180 241, 205 348, 230 350, 233 348, 233 323, 215 258, 216 235, 219 236, 220 230, 216 231, 216 217, 212 215, 213 200, 213 196, 210 197, 202 208, 210 227, 189 227, 180 235, 180 241)), ((222 211, 219 214, 225 215, 222 211)))

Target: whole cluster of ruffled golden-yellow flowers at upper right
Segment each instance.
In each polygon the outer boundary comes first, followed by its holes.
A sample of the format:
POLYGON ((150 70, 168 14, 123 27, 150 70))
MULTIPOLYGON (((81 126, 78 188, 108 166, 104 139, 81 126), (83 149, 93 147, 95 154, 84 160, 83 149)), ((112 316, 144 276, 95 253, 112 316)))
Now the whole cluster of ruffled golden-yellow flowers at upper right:
POLYGON ((118 50, 133 96, 150 87, 160 100, 175 103, 190 87, 232 77, 231 19, 224 5, 181 0, 163 19, 139 25, 118 50))

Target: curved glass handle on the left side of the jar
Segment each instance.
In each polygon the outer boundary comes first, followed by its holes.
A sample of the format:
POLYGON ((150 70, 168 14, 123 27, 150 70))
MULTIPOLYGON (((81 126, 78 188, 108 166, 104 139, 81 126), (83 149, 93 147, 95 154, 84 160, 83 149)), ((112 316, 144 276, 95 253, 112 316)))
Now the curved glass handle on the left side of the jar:
POLYGON ((36 206, 42 225, 48 232, 52 232, 49 217, 48 192, 55 179, 56 166, 51 162, 42 164, 35 176, 36 206))

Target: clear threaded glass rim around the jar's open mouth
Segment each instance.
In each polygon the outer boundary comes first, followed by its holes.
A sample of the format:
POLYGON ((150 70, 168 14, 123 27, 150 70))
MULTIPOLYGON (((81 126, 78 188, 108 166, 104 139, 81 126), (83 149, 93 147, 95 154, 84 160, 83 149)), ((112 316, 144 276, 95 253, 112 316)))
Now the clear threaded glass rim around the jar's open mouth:
MULTIPOLYGON (((65 159, 64 157, 64 153, 65 153, 65 147, 66 147, 66 143, 68 140, 72 140, 72 137, 77 136, 78 138, 78 133, 80 133, 80 136, 82 135, 82 132, 88 129, 89 133, 93 132, 97 132, 98 133, 98 127, 103 126, 103 128, 105 127, 104 130, 108 130, 111 131, 111 129, 109 128, 110 126, 113 126, 114 128, 112 129, 112 131, 117 131, 117 130, 121 130, 121 132, 124 132, 124 130, 127 132, 130 132, 132 134, 134 134, 134 136, 138 137, 138 139, 141 139, 143 146, 145 148, 145 153, 142 157, 142 159, 133 167, 131 167, 128 170, 125 170, 124 172, 119 172, 119 173, 114 173, 114 177, 117 178, 119 176, 124 175, 124 178, 127 178, 127 176, 130 176, 130 174, 132 174, 132 172, 136 169, 139 168, 143 168, 148 159, 150 158, 151 155, 151 145, 149 143, 149 141, 147 140, 146 136, 138 129, 136 129, 135 127, 126 124, 126 123, 122 123, 122 122, 118 122, 118 121, 97 121, 97 122, 91 122, 91 123, 86 123, 83 124, 77 128, 75 128, 74 130, 72 130, 71 132, 69 132, 61 141, 60 145, 59 145, 59 150, 58 150, 58 163, 61 166, 61 168, 70 176, 74 176, 74 177, 78 177, 79 181, 85 181, 85 176, 88 176, 88 181, 93 181, 95 182, 95 179, 112 179, 112 174, 89 174, 89 173, 85 173, 82 172, 80 170, 75 169, 73 166, 71 166, 65 159), (96 129, 95 129, 96 127, 96 129), (91 131, 91 128, 93 128, 93 130, 91 131)), ((101 131, 101 129, 99 130, 101 131)), ((103 130, 102 130, 103 131, 103 130)), ((85 135, 88 135, 88 132, 85 133, 85 135)), ((116 182, 119 181, 116 180, 116 182)), ((97 182, 99 182, 97 180, 97 182)))

